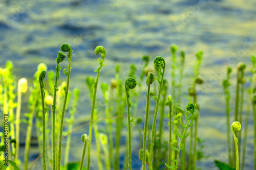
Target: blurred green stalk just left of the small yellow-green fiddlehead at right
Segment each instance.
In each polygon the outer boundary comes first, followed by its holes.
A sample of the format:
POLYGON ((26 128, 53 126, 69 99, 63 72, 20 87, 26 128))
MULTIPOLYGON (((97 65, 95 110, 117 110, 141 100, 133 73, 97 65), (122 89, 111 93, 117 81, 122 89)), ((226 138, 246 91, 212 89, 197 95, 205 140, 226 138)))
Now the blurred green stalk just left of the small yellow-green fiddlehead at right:
POLYGON ((229 92, 229 79, 230 79, 230 74, 232 72, 232 67, 228 67, 227 68, 227 78, 225 80, 223 80, 223 88, 224 88, 224 93, 225 93, 225 100, 226 100, 226 116, 227 116, 227 121, 226 121, 226 125, 227 125, 227 149, 228 149, 228 160, 229 160, 229 164, 232 163, 232 159, 231 159, 231 143, 230 143, 230 130, 229 130, 229 112, 230 112, 230 92, 229 92))

